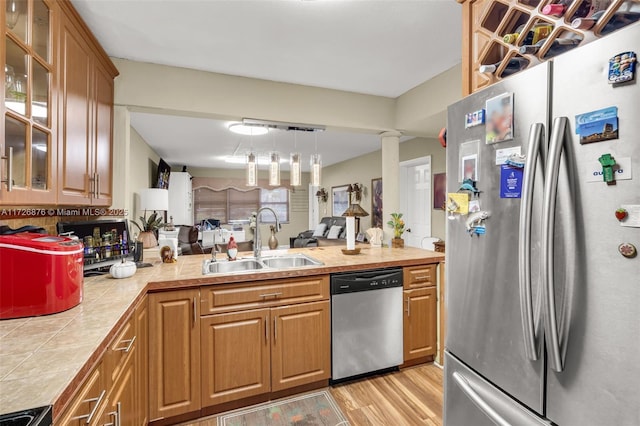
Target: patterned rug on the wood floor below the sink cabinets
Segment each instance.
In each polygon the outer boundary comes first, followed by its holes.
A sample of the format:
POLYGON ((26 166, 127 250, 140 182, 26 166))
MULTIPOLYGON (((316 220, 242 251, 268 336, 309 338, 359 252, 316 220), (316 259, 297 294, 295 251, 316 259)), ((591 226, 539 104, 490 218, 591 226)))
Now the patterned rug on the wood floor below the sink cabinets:
POLYGON ((327 391, 255 405, 218 417, 218 426, 348 426, 327 391))

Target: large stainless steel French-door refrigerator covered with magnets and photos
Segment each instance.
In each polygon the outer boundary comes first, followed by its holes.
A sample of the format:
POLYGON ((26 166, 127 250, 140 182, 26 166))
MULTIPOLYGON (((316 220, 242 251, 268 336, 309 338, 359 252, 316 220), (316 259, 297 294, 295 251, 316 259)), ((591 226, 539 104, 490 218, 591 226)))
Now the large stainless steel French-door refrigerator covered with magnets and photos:
POLYGON ((449 107, 447 192, 471 203, 448 196, 445 426, 640 425, 640 77, 608 81, 625 52, 640 24, 449 107))

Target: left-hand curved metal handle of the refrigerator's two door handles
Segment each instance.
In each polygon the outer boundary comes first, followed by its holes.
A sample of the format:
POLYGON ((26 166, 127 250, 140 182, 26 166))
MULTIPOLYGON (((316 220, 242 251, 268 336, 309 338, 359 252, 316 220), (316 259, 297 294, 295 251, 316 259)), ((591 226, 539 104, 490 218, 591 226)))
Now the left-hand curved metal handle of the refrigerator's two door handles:
POLYGON ((518 241, 518 281, 520 286, 520 315, 524 351, 531 361, 538 360, 539 346, 536 338, 533 301, 531 295, 531 215, 533 210, 533 187, 536 165, 540 156, 540 145, 544 138, 544 125, 534 123, 529 129, 529 143, 524 165, 524 183, 520 204, 518 241))

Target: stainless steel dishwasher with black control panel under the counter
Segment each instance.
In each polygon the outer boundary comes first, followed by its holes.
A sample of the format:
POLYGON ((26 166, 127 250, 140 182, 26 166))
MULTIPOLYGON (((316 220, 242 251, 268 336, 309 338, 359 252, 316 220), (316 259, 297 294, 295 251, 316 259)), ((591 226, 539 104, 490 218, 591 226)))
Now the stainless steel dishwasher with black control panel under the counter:
POLYGON ((331 276, 331 380, 403 362, 402 268, 331 276))

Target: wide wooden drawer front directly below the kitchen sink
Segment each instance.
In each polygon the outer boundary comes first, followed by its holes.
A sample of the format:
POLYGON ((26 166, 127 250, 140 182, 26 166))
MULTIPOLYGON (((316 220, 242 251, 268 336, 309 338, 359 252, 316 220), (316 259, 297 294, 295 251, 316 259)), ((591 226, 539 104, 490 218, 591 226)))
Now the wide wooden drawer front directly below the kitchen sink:
POLYGON ((329 299, 329 277, 201 287, 202 315, 329 299))

